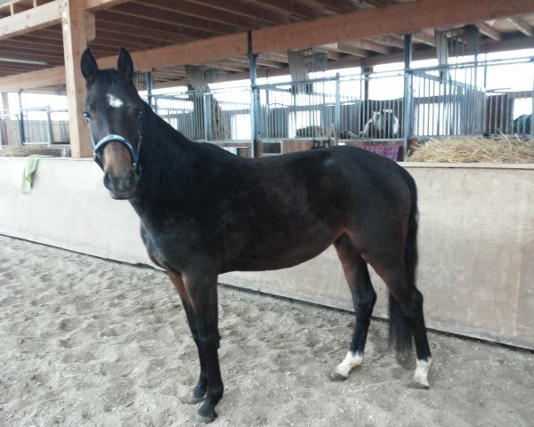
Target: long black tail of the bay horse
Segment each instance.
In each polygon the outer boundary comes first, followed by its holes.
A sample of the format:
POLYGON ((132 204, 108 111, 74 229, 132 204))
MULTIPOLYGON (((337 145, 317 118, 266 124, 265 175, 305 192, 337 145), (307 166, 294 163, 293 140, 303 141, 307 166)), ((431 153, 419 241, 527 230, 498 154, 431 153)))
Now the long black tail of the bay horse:
MULTIPOLYGON (((406 181, 410 193, 410 209, 408 220, 408 233, 404 249, 404 265, 407 271, 409 292, 416 287, 417 270, 417 186, 411 175, 401 168, 401 175, 406 181)), ((389 339, 397 353, 406 353, 412 346, 412 328, 408 316, 402 310, 397 300, 389 295, 389 339)))

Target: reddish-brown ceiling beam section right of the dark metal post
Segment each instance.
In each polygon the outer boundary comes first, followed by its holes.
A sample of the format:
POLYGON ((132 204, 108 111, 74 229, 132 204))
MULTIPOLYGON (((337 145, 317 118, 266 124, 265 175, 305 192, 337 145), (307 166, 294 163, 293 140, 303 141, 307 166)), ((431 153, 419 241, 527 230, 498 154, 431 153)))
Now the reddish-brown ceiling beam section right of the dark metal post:
POLYGON ((532 0, 420 0, 253 31, 255 53, 305 49, 351 38, 409 34, 420 28, 464 24, 534 12, 532 0))

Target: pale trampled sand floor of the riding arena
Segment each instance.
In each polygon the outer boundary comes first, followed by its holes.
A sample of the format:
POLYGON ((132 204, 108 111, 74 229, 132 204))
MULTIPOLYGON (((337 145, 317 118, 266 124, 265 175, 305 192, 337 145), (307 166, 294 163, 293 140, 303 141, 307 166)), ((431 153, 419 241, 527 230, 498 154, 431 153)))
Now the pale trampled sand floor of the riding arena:
MULTIPOLYGON (((350 313, 220 288, 214 426, 533 426, 534 354, 430 334, 430 391, 374 321, 344 383, 350 313)), ((0 236, 0 425, 194 425, 197 350, 158 270, 0 236)))

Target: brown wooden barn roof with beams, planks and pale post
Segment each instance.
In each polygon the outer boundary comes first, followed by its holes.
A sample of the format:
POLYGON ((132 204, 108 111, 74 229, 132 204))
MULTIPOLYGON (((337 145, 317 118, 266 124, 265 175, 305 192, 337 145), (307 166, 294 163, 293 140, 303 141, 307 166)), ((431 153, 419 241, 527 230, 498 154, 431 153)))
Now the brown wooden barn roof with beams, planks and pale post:
MULTIPOLYGON (((101 67, 124 46, 165 87, 187 83, 185 65, 247 78, 248 52, 260 77, 288 74, 287 50, 311 47, 329 68, 401 61, 404 34, 413 59, 435 58, 434 30, 465 24, 479 28, 481 52, 534 47, 532 0, 0 0, 0 93, 66 85, 81 111, 86 46, 101 67)), ((71 141, 85 132, 77 116, 71 141)), ((78 145, 75 157, 89 153, 78 145)))

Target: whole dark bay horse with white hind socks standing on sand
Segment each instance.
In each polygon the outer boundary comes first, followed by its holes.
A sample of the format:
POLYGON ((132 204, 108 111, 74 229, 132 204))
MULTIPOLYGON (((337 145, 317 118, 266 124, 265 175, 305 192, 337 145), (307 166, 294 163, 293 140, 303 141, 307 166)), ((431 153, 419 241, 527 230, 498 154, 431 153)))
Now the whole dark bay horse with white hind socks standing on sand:
POLYGON ((356 312, 352 342, 330 378, 360 366, 376 293, 368 264, 390 291, 390 337, 413 340, 412 386, 428 388, 432 359, 415 284, 417 189, 401 166, 363 149, 314 149, 243 158, 196 143, 140 98, 134 64, 121 49, 117 69, 81 60, 95 160, 111 197, 128 199, 141 218, 150 259, 168 272, 198 347, 200 376, 190 403, 211 422, 223 397, 217 328, 217 277, 232 270, 293 266, 336 246, 356 312))

